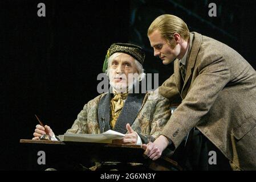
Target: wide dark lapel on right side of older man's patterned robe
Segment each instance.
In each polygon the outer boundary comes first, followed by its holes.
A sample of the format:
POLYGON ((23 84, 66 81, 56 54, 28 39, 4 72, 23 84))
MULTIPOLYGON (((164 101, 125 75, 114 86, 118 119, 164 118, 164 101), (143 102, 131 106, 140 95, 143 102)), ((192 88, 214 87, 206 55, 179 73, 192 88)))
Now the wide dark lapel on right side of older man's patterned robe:
POLYGON ((145 93, 131 93, 128 95, 113 130, 123 134, 127 133, 126 124, 129 123, 132 126, 143 106, 144 97, 145 93))

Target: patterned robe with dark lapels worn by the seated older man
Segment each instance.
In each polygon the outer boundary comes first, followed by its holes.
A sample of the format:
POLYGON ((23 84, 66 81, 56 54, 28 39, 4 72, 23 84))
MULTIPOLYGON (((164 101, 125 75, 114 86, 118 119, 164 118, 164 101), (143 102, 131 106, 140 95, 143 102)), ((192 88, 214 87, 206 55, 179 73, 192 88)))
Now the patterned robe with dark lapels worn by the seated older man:
MULTIPOLYGON (((84 105, 71 129, 67 133, 99 134, 111 129, 110 119, 111 94, 103 93, 84 105), (104 118, 104 121, 103 121, 104 118)), ((125 125, 129 123, 139 134, 143 143, 159 137, 170 118, 169 100, 157 96, 150 99, 147 94, 128 94, 116 125, 112 130, 127 133, 125 125)))

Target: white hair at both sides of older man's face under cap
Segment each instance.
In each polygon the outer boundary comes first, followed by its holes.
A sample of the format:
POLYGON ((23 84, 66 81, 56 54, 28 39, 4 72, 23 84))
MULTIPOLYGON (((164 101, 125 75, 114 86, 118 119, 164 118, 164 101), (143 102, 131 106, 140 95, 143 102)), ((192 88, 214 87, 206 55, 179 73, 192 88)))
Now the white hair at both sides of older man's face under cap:
MULTIPOLYGON (((108 69, 105 71, 106 75, 109 76, 109 67, 111 66, 112 64, 112 61, 117 57, 117 56, 120 56, 121 55, 121 52, 116 52, 116 53, 113 53, 113 55, 111 55, 109 58, 108 58, 108 69)), ((146 77, 146 74, 144 73, 144 69, 143 69, 143 66, 140 64, 139 61, 137 61, 134 57, 133 59, 135 60, 135 65, 136 65, 136 68, 137 68, 137 71, 138 71, 138 74, 139 74, 139 80, 138 81, 141 81, 143 80, 145 77, 146 77)))

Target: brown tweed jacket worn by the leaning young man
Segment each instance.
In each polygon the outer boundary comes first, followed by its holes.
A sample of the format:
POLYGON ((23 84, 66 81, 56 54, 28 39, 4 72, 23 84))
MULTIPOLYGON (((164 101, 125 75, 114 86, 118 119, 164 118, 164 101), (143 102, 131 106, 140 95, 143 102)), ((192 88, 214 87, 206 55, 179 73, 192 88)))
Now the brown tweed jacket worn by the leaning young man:
POLYGON ((225 44, 197 32, 192 37, 184 84, 175 60, 159 88, 170 101, 182 98, 161 134, 177 147, 196 126, 233 169, 256 170, 256 72, 225 44))

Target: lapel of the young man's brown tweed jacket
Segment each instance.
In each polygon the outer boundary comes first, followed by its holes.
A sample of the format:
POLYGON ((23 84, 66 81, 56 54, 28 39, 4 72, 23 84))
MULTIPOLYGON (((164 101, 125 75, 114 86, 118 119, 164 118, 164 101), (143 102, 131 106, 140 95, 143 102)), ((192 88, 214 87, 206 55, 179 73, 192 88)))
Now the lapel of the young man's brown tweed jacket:
MULTIPOLYGON (((184 81, 184 85, 181 91, 181 96, 182 98, 185 98, 188 89, 189 89, 189 85, 190 85, 190 77, 192 76, 192 72, 194 69, 194 65, 196 63, 196 59, 197 59, 197 55, 202 43, 202 35, 198 34, 197 32, 192 32, 190 33, 190 40, 192 40, 192 48, 191 51, 189 53, 189 57, 187 60, 187 68, 186 68, 186 76, 185 76, 185 81, 184 81), (193 34, 193 35, 192 35, 193 34), (193 38, 193 40, 192 40, 193 38)), ((191 42, 190 42, 191 44, 191 42)))

